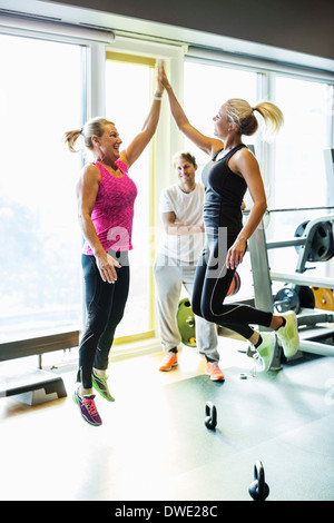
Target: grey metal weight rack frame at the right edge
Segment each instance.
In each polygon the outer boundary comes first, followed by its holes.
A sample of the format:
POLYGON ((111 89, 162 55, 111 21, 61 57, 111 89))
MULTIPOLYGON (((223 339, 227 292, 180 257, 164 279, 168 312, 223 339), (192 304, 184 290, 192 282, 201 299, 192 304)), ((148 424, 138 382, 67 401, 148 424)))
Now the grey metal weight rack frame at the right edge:
MULTIPOLYGON (((306 304, 306 306, 301 306, 299 310, 297 312, 301 338, 299 349, 302 352, 308 352, 323 356, 334 356, 334 329, 323 325, 334 323, 334 314, 331 313, 331 310, 320 312, 318 309, 312 307, 313 299, 311 296, 312 289, 310 289, 310 287, 333 289, 334 278, 318 278, 314 276, 310 277, 304 273, 307 270, 306 263, 310 258, 320 259, 322 257, 318 251, 315 253, 314 250, 314 238, 316 238, 318 235, 320 224, 333 224, 333 221, 334 214, 328 214, 326 216, 312 219, 305 226, 303 236, 283 241, 266 241, 265 229, 263 224, 261 224, 248 241, 255 293, 255 306, 263 310, 274 312, 275 298, 273 299, 272 295, 272 282, 275 280, 284 282, 284 284, 291 284, 291 290, 282 292, 278 295, 279 299, 277 299, 276 303, 278 303, 278 307, 293 307, 297 302, 296 295, 298 295, 299 305, 301 297, 303 296, 303 305, 306 304), (295 273, 287 274, 271 270, 268 264, 268 249, 291 246, 299 247, 295 273), (307 287, 308 290, 305 290, 307 287), (328 341, 332 342, 332 345, 327 343, 328 341)), ((330 248, 325 248, 324 251, 326 251, 326 257, 328 257, 331 254, 331 241, 328 241, 326 245, 330 245, 330 248)), ((277 308, 277 310, 279 312, 279 308, 277 308)), ((281 368, 281 355, 282 348, 279 345, 277 345, 276 342, 275 355, 271 367, 272 371, 281 368)))

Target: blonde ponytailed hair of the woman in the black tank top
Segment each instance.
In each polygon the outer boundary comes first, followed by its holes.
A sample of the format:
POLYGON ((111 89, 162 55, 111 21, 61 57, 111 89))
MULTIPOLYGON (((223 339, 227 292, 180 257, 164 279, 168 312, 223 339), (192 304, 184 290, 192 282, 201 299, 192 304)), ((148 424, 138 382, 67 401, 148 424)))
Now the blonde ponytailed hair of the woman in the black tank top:
POLYGON ((269 140, 284 122, 283 112, 271 101, 261 101, 252 107, 242 98, 230 98, 224 103, 226 116, 229 121, 238 125, 240 135, 252 136, 258 129, 258 121, 254 111, 258 111, 265 121, 264 139, 269 140))

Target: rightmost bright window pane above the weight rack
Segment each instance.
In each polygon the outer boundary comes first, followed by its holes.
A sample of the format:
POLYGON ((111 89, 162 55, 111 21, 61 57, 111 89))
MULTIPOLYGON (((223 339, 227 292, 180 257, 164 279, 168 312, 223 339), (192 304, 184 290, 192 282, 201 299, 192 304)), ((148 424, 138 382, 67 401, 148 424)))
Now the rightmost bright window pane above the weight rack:
MULTIPOLYGON (((328 96, 326 83, 276 76, 275 101, 285 121, 274 144, 269 208, 276 211, 271 214, 269 239, 293 238, 301 224, 328 214, 327 209, 321 208, 327 205, 324 149, 331 144, 328 96)), ((292 273, 297 251, 294 247, 275 249, 269 259, 273 269, 292 273)), ((327 269, 328 264, 314 264, 312 274, 322 276, 327 269)))

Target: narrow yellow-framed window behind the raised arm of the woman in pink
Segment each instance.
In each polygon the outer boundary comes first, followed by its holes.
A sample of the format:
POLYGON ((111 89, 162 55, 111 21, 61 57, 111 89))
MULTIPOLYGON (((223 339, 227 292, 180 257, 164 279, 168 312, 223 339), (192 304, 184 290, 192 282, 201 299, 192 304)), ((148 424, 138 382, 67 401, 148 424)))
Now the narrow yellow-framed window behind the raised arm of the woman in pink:
MULTIPOLYGON (((127 147, 141 130, 148 115, 154 82, 153 59, 139 59, 114 52, 107 53, 106 112, 115 122, 122 146, 127 147)), ((151 238, 154 209, 153 158, 154 141, 130 168, 137 185, 130 251, 130 292, 125 316, 117 328, 117 337, 153 334, 151 238)), ((132 338, 134 339, 134 338, 132 338)))

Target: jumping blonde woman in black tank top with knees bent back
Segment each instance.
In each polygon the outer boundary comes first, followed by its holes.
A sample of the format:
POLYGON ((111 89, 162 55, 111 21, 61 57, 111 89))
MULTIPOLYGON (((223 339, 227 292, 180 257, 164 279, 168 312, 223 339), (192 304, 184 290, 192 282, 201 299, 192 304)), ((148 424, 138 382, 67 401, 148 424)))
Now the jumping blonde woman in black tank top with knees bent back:
POLYGON ((298 348, 294 313, 278 316, 244 304, 224 304, 224 299, 234 273, 243 262, 247 239, 259 225, 266 210, 266 195, 259 167, 254 155, 243 144, 242 135, 250 136, 257 130, 254 111, 262 115, 267 129, 274 132, 282 126, 283 115, 274 103, 261 102, 250 107, 247 101, 233 98, 227 100, 214 117, 215 138, 207 137, 190 125, 163 67, 159 75, 178 128, 212 158, 203 172, 206 187, 206 246, 198 262, 193 310, 196 315, 226 326, 248 339, 257 349, 263 368, 268 371, 274 355, 275 332, 287 357, 298 348), (254 205, 247 223, 243 226, 240 207, 247 189, 254 205), (258 333, 249 324, 269 327, 273 332, 258 333))

